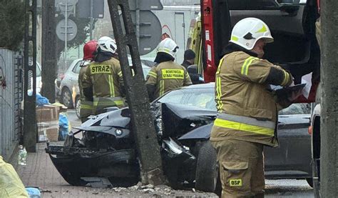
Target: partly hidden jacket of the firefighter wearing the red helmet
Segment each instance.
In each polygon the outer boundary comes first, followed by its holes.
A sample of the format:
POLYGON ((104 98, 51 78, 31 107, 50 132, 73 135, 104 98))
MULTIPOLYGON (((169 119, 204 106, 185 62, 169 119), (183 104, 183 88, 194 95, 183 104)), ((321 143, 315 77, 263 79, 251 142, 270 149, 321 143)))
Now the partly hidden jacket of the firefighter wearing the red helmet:
POLYGON ((81 69, 78 73, 78 88, 80 89, 80 117, 81 119, 86 119, 88 116, 93 114, 93 102, 86 100, 86 97, 83 94, 83 81, 85 79, 85 73, 88 64, 81 66, 81 69))

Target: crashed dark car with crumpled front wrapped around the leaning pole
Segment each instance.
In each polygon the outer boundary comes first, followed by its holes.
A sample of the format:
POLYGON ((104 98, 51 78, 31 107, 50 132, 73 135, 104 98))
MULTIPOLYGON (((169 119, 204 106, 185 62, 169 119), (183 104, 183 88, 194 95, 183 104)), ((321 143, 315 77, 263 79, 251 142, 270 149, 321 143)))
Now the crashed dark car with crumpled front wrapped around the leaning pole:
MULTIPOLYGON (((214 83, 186 86, 168 92, 151 104, 163 169, 174 188, 188 184, 207 192, 220 191, 216 153, 208 142, 217 116, 214 88, 214 83)), ((307 105, 293 104, 280 112, 278 126, 281 147, 265 148, 265 175, 311 178, 307 105)), ((138 181, 128 108, 100 114, 76 129, 76 133, 83 133, 83 139, 71 136, 65 146, 49 145, 46 149, 69 184, 85 184, 81 177, 108 177, 113 184, 121 178, 133 178, 130 184, 138 181)))

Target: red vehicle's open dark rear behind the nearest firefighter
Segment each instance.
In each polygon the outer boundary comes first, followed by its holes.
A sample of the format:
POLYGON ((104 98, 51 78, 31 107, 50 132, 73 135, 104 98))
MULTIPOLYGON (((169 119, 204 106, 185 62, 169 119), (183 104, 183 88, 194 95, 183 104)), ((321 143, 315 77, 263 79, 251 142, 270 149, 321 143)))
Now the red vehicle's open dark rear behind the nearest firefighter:
POLYGON ((312 72, 309 98, 299 102, 314 102, 320 68, 316 0, 202 0, 201 11, 206 81, 215 81, 217 64, 232 27, 241 19, 255 17, 265 21, 275 38, 267 44, 264 58, 291 71, 296 84, 312 72))

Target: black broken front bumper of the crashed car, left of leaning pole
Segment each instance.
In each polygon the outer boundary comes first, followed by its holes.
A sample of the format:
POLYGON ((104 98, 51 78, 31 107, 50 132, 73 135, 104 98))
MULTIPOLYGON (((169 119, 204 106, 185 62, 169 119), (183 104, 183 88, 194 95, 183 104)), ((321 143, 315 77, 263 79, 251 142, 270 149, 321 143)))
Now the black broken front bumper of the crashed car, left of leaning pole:
POLYGON ((63 179, 72 185, 85 185, 81 177, 139 177, 133 149, 95 151, 81 147, 48 146, 46 153, 63 179))

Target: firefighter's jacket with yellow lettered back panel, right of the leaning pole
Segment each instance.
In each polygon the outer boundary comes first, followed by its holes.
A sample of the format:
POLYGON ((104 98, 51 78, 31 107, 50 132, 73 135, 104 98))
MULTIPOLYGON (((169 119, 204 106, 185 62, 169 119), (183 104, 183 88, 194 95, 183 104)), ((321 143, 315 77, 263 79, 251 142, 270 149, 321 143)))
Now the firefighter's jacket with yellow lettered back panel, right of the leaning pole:
POLYGON ((150 69, 145 84, 155 86, 153 93, 150 93, 150 98, 156 99, 167 91, 192 83, 184 66, 175 64, 173 61, 163 61, 150 69))

